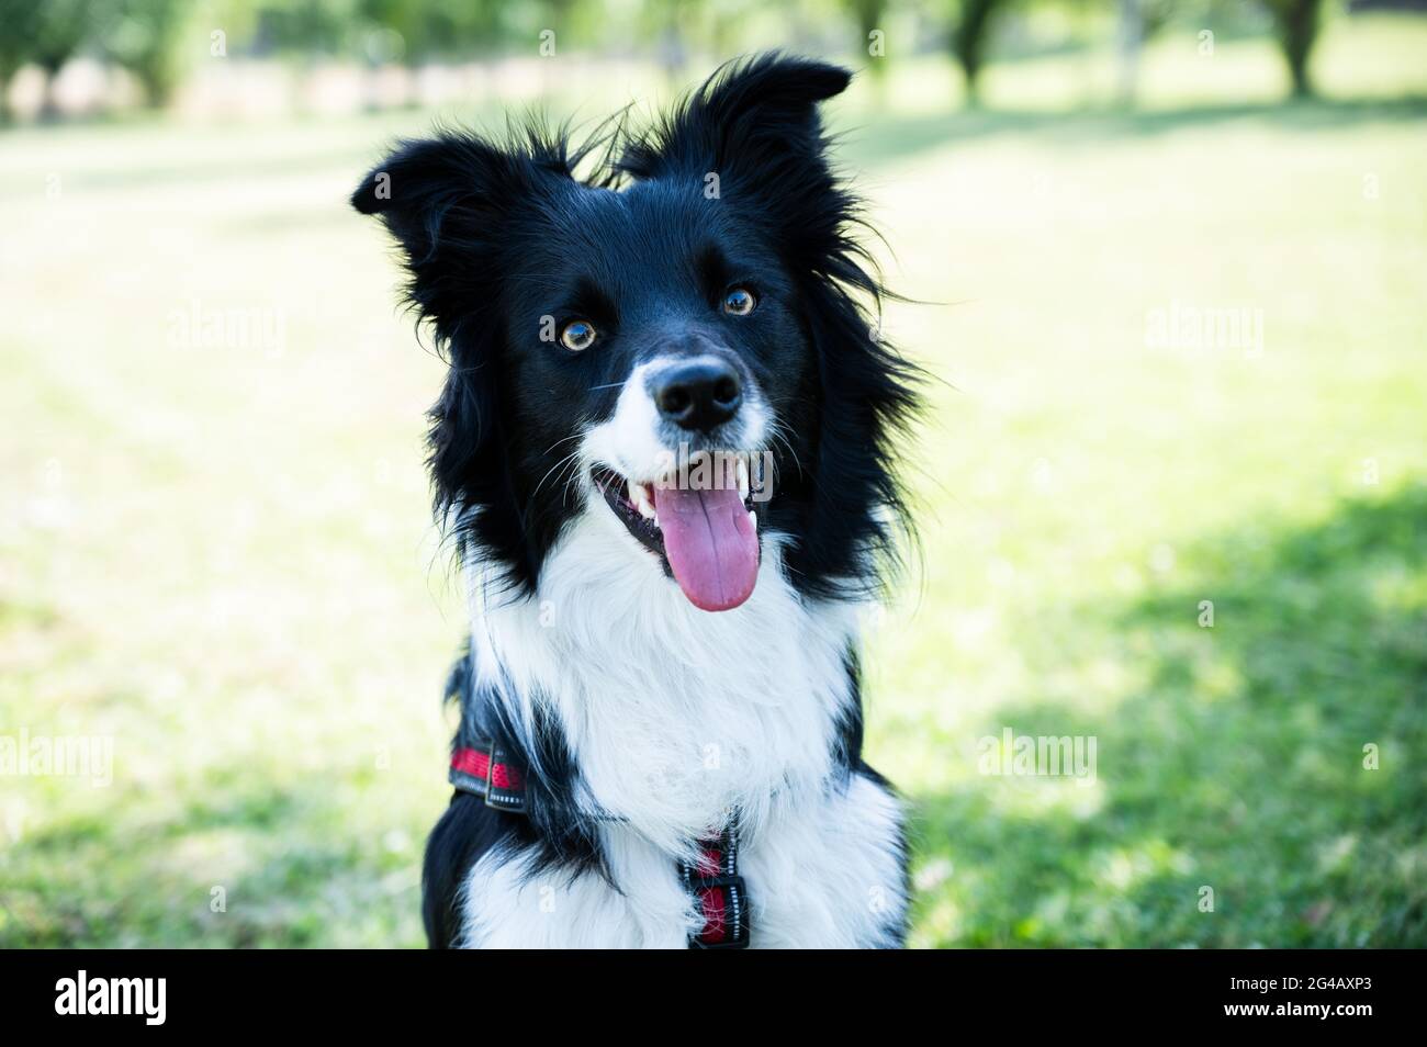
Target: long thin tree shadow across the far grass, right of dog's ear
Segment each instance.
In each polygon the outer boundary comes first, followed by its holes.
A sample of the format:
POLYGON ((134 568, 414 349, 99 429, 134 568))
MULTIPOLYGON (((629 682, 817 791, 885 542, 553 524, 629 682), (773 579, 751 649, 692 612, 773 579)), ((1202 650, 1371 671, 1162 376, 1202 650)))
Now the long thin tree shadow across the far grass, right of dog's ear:
POLYGON ((848 128, 848 158, 880 167, 952 141, 1005 134, 1066 144, 1147 137, 1194 127, 1257 120, 1276 130, 1320 131, 1371 121, 1427 120, 1427 96, 1378 100, 1306 100, 1276 104, 1196 106, 1174 110, 959 110, 919 117, 879 117, 848 128))

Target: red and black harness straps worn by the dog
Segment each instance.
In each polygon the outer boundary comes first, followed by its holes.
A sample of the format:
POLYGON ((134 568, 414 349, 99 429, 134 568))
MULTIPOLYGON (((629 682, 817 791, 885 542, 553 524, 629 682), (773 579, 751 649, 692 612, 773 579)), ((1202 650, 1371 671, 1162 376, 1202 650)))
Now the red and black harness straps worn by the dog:
MULTIPOLYGON (((451 753, 451 785, 485 800, 485 806, 525 813, 525 772, 487 739, 451 753)), ((679 862, 679 877, 704 914, 704 929, 689 949, 748 947, 748 889, 738 874, 738 839, 732 829, 699 840, 696 866, 679 862)))

